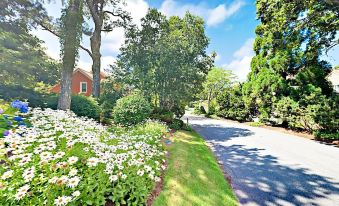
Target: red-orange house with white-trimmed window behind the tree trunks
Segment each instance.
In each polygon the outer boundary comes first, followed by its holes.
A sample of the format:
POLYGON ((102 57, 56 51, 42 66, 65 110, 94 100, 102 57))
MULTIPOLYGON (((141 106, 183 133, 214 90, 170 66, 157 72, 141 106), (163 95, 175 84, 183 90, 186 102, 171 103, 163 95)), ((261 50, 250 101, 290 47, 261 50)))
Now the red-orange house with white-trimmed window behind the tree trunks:
MULTIPOLYGON (((100 79, 104 79, 106 75, 100 73, 100 79)), ((72 93, 83 94, 85 96, 91 96, 92 94, 92 72, 77 68, 73 71, 72 77, 72 93)), ((51 90, 53 93, 60 93, 60 83, 54 85, 51 90)))

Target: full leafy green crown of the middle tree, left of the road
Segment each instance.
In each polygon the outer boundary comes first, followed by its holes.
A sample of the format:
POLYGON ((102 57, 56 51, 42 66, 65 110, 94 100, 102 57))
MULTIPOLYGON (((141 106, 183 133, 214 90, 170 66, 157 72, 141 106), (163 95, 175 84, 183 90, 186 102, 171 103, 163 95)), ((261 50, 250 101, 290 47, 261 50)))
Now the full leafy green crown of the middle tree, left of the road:
POLYGON ((154 106, 181 116, 213 62, 206 54, 208 42, 201 18, 187 13, 167 19, 151 9, 140 29, 127 31, 116 79, 142 91, 154 106))

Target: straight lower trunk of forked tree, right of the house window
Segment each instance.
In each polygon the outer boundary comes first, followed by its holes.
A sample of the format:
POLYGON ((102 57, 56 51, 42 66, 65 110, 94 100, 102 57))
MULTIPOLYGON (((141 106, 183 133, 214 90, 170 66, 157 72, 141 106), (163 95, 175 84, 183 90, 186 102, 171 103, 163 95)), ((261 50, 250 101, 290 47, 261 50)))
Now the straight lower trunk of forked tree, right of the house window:
POLYGON ((91 37, 91 50, 92 50, 92 73, 93 73, 93 84, 92 84, 92 96, 100 96, 100 67, 101 67, 101 23, 95 24, 95 30, 91 37))

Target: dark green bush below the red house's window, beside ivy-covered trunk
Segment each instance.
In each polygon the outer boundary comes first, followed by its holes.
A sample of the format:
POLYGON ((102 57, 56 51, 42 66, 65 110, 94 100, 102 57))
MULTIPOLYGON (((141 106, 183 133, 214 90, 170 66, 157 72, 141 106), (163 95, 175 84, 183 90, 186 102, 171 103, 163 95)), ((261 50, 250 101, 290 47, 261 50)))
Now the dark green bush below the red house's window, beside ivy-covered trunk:
POLYGON ((71 110, 78 116, 99 120, 100 107, 93 97, 72 95, 71 110))

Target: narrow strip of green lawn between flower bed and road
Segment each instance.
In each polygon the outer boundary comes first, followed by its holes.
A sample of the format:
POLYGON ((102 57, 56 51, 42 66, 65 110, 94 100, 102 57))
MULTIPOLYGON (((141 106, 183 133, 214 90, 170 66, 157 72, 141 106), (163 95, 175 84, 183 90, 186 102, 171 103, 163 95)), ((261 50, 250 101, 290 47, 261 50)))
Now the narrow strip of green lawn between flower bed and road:
POLYGON ((179 131, 171 140, 164 188, 154 206, 238 205, 216 159, 197 133, 179 131))

